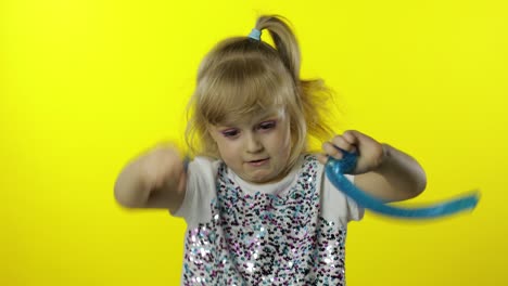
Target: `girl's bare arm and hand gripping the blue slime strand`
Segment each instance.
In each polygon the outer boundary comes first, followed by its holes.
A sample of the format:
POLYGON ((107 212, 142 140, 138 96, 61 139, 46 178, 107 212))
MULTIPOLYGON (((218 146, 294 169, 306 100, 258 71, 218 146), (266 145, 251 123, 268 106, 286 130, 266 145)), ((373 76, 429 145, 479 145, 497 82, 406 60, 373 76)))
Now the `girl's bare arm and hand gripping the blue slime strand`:
MULTIPOLYGON (((322 147, 328 156, 342 158, 334 146, 359 152, 355 170, 355 185, 384 202, 397 202, 418 196, 427 185, 421 166, 409 155, 355 130, 335 135, 322 147)), ((319 156, 323 164, 325 155, 319 156)))

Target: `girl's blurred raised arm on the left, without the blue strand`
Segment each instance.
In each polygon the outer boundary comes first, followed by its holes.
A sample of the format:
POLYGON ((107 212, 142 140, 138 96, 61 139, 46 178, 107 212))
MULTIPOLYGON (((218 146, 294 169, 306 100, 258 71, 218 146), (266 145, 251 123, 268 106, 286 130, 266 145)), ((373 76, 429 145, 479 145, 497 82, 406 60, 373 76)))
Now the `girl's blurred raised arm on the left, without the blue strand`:
POLYGON ((116 202, 126 208, 176 211, 183 202, 187 174, 170 146, 161 146, 128 164, 116 179, 116 202))

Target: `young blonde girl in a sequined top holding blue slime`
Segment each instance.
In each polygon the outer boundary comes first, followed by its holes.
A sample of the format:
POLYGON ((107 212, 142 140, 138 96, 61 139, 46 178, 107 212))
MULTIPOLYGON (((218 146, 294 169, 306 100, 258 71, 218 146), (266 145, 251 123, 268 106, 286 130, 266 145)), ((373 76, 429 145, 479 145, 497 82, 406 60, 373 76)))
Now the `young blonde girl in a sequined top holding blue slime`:
POLYGON ((424 190, 408 155, 358 131, 332 135, 320 109, 328 91, 300 78, 299 46, 280 16, 261 16, 249 37, 205 56, 187 131, 193 160, 160 145, 115 184, 120 205, 186 220, 182 285, 344 285, 346 225, 364 209, 323 174, 328 156, 341 158, 336 147, 358 153, 347 178, 377 197, 424 190), (309 136, 325 142, 322 154, 307 151, 309 136))

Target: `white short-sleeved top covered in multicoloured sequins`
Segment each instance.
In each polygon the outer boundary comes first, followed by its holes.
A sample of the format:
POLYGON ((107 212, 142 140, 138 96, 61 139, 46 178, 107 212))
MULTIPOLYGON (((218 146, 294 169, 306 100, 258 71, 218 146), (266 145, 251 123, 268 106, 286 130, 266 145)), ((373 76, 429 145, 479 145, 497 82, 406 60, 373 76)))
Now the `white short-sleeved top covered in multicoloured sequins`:
POLYGON ((182 285, 345 285, 346 224, 363 209, 336 190, 322 192, 330 184, 314 156, 303 156, 271 192, 249 190, 220 161, 209 165, 208 206, 206 193, 188 186, 196 193, 175 213, 188 222, 182 285))

